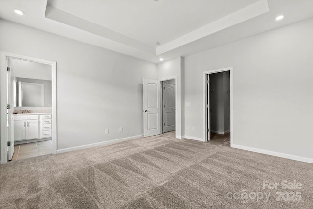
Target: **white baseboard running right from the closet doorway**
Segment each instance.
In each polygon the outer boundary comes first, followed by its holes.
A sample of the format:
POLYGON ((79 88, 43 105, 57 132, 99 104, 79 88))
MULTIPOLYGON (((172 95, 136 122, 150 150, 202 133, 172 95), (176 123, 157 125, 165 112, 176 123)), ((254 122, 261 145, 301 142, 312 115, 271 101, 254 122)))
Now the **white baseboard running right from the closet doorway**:
POLYGON ((243 150, 247 150, 247 151, 267 154, 267 155, 273 155, 273 156, 277 156, 277 157, 281 157, 281 158, 287 158, 287 159, 291 159, 291 160, 302 161, 302 162, 306 162, 306 163, 313 163, 312 158, 305 158, 305 157, 300 157, 300 156, 296 156, 296 155, 290 155, 290 154, 285 154, 285 153, 280 153, 280 152, 273 152, 273 151, 268 151, 268 150, 264 150, 264 149, 257 149, 257 148, 252 148, 252 147, 236 145, 236 144, 233 144, 232 147, 237 148, 237 149, 243 149, 243 150))

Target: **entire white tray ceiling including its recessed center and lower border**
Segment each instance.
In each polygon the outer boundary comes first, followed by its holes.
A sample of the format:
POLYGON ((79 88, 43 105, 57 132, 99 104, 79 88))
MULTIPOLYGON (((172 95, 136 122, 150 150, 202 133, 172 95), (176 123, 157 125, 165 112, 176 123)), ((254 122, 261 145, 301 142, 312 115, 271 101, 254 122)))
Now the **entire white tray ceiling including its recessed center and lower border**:
POLYGON ((155 63, 310 17, 313 0, 0 0, 2 19, 155 63))

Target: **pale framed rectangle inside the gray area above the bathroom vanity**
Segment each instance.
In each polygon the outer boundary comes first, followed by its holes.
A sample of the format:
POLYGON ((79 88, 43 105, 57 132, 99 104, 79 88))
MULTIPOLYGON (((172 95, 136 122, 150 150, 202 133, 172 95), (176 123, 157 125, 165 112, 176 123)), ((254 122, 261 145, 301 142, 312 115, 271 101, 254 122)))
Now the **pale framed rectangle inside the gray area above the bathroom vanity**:
POLYGON ((18 82, 18 107, 43 107, 44 84, 18 82))

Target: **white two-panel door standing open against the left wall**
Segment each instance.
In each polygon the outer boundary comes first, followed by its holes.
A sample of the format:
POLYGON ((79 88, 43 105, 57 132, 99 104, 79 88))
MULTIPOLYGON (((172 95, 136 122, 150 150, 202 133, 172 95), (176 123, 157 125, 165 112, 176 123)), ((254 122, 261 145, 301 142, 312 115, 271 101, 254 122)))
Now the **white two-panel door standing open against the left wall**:
POLYGON ((161 134, 161 81, 143 79, 143 136, 161 134))

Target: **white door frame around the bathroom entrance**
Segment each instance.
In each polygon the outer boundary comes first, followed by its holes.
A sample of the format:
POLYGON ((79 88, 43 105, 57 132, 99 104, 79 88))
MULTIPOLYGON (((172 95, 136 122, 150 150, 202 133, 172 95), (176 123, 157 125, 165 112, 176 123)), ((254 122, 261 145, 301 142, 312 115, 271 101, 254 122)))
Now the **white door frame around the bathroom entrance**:
POLYGON ((7 83, 6 83, 6 69, 7 69, 7 59, 19 59, 37 63, 43 63, 51 65, 52 68, 52 153, 57 153, 57 62, 44 60, 40 58, 28 57, 18 54, 12 54, 7 52, 0 52, 0 123, 1 123, 1 136, 0 136, 0 144, 1 144, 1 164, 5 164, 8 161, 8 156, 6 152, 6 142, 7 142, 7 127, 6 127, 6 91, 7 91, 7 83))

